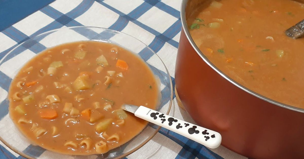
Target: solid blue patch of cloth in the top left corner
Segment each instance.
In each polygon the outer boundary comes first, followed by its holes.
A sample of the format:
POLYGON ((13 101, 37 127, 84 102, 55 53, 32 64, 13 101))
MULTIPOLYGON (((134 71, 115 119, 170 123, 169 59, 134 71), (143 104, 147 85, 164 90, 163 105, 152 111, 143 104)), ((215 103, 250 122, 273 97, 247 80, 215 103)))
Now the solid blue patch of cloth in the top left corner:
POLYGON ((40 10, 55 0, 9 0, 0 1, 0 31, 40 10), (22 13, 22 14, 21 14, 22 13))

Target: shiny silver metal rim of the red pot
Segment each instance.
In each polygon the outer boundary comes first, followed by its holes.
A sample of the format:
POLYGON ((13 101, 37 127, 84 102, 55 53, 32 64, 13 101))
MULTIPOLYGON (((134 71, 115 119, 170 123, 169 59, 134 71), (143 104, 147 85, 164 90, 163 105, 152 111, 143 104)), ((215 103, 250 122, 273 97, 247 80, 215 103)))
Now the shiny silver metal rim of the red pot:
POLYGON ((208 58, 202 53, 202 51, 199 50, 199 48, 196 46, 194 40, 192 39, 188 26, 187 26, 187 22, 186 22, 186 6, 188 4, 188 0, 182 0, 181 2, 181 25, 182 25, 182 29, 185 32, 185 35, 188 39, 188 41, 190 42, 190 44, 192 45, 192 48, 194 48, 194 50, 196 51, 196 53, 207 63, 207 65, 209 65, 214 71, 216 71, 219 75, 221 75, 223 78, 225 78, 227 81, 229 81, 230 83, 232 83, 233 85, 237 86, 238 88, 242 89, 243 91, 254 95, 257 98, 260 98, 264 101, 267 101, 271 104, 280 106, 282 108, 286 108, 286 109, 290 109, 293 111, 298 111, 301 113, 304 113, 304 109, 302 108, 297 108, 288 104, 284 104, 275 100, 272 100, 270 98, 267 98, 261 94, 258 94, 254 91, 251 91, 250 89, 244 87, 243 85, 241 85, 240 83, 238 83, 237 81, 234 81, 232 78, 230 78, 229 76, 227 76, 226 74, 224 74, 221 70, 219 70, 219 68, 217 68, 211 61, 208 60, 208 58))

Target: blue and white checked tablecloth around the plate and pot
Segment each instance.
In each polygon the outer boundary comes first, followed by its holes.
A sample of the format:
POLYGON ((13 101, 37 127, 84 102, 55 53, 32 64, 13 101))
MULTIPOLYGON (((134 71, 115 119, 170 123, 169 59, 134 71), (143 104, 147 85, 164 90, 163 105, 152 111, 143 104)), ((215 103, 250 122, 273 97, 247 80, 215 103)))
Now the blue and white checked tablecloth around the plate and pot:
MULTIPOLYGON (((175 59, 181 31, 179 12, 181 0, 53 1, 0 0, 0 59, 16 45, 42 32, 71 26, 96 26, 122 31, 143 41, 164 61, 174 84, 175 59), (11 14, 3 15, 6 12, 11 14)), ((0 67, 0 85, 3 81, 11 80, 12 77, 11 72, 0 67)), ((9 86, 1 86, 0 94, 7 94, 9 86)), ((0 103, 4 100, 0 97, 0 103)), ((6 115, 7 112, 0 112, 0 118, 6 115)), ((170 115, 194 122, 178 107, 175 99, 170 115)), ((31 151, 31 147, 27 147, 26 151, 31 151)), ((41 152, 43 154, 43 151, 41 152)), ((0 158, 23 157, 0 142, 0 158)), ((161 128, 155 137, 127 158, 241 159, 245 157, 222 146, 211 151, 188 138, 161 128)))

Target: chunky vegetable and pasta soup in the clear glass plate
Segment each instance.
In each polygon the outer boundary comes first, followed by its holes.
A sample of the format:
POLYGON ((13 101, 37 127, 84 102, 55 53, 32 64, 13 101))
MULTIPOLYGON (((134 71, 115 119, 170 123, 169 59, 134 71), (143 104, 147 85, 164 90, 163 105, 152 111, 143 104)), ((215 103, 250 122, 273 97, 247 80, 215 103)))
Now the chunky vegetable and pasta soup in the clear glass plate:
POLYGON ((158 84, 139 57, 117 45, 79 41, 49 48, 13 79, 9 112, 35 144, 63 154, 103 154, 147 125, 124 103, 155 109, 158 84))

